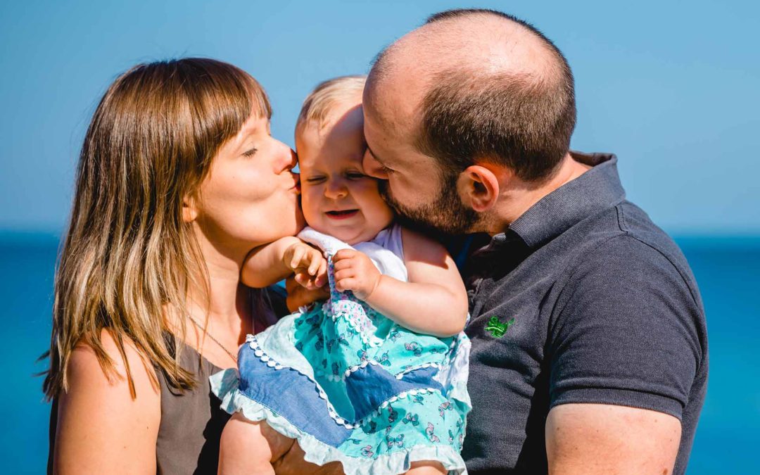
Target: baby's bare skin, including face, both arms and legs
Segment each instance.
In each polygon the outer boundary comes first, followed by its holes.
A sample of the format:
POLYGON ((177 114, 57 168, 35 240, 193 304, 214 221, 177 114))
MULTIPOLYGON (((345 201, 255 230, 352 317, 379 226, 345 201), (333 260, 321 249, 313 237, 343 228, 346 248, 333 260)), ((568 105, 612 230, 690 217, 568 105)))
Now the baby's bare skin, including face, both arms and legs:
MULTIPOLYGON (((373 239, 389 226, 393 212, 378 192, 378 180, 363 170, 361 96, 331 109, 327 123, 306 124, 296 131, 302 181, 302 208, 309 226, 349 244, 373 239)), ((341 249, 333 257, 335 289, 352 291, 373 309, 413 331, 448 337, 458 334, 467 316, 467 296, 454 261, 442 245, 402 230, 408 282, 380 274, 362 252, 341 249)), ((245 261, 242 279, 264 287, 290 274, 302 288, 318 290, 326 282, 321 251, 293 236, 255 249, 245 261)), ((235 415, 225 426, 220 473, 274 473, 290 470, 281 460, 293 444, 264 421, 235 415)), ((299 462, 304 464, 303 462, 299 462)), ((303 467, 310 473, 315 467, 303 467)), ((324 470, 329 470, 325 467, 324 470)), ((335 468, 339 470, 339 468, 335 468)), ((436 461, 419 461, 407 473, 445 473, 436 461)))

